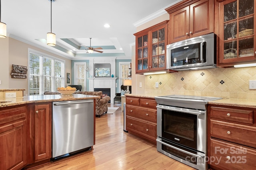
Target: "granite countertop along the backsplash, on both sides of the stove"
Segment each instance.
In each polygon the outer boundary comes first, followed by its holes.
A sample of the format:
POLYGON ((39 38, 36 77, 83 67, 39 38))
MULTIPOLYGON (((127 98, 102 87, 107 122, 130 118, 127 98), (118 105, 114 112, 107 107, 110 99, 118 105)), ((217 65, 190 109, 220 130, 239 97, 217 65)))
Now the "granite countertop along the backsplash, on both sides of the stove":
MULTIPOLYGON (((125 96, 154 99, 157 95, 156 94, 125 94, 125 96)), ((159 95, 159 96, 163 96, 163 95, 159 95)), ((208 102, 208 104, 256 108, 256 100, 219 99, 219 100, 210 101, 208 102)))

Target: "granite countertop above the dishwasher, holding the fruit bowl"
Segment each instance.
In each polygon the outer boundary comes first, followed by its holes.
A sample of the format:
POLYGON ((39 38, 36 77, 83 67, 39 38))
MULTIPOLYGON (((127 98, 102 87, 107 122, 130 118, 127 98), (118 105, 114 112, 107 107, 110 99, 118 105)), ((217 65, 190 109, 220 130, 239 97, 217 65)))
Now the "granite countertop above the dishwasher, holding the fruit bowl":
POLYGON ((24 96, 22 98, 0 98, 0 107, 16 106, 20 104, 39 103, 39 102, 58 102, 68 100, 86 100, 86 99, 99 99, 100 96, 91 96, 85 94, 73 94, 72 96, 56 95, 35 95, 24 96), (7 101, 7 102, 6 102, 7 101), (5 103, 1 103, 5 102, 5 103))

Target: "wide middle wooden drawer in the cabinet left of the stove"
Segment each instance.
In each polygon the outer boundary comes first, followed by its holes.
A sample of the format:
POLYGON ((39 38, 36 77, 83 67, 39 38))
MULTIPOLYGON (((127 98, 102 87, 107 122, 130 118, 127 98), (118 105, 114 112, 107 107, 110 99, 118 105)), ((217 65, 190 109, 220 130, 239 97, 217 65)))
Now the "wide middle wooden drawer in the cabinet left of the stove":
POLYGON ((126 106, 126 115, 146 119, 156 123, 156 110, 154 109, 126 106))

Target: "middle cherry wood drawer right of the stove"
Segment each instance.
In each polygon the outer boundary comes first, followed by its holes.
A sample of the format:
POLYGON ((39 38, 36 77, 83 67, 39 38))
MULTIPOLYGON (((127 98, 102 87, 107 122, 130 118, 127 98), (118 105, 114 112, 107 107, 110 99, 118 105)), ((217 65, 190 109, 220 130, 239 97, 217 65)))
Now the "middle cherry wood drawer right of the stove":
POLYGON ((256 147, 256 127, 211 120, 210 129, 212 137, 256 147))

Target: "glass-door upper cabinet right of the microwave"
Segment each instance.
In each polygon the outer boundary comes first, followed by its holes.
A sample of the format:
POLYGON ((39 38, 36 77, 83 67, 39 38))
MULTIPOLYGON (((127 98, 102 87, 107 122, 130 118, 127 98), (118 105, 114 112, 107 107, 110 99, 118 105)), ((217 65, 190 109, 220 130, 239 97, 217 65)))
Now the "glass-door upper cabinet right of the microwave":
POLYGON ((250 63, 254 57, 254 0, 220 2, 218 66, 250 63))

